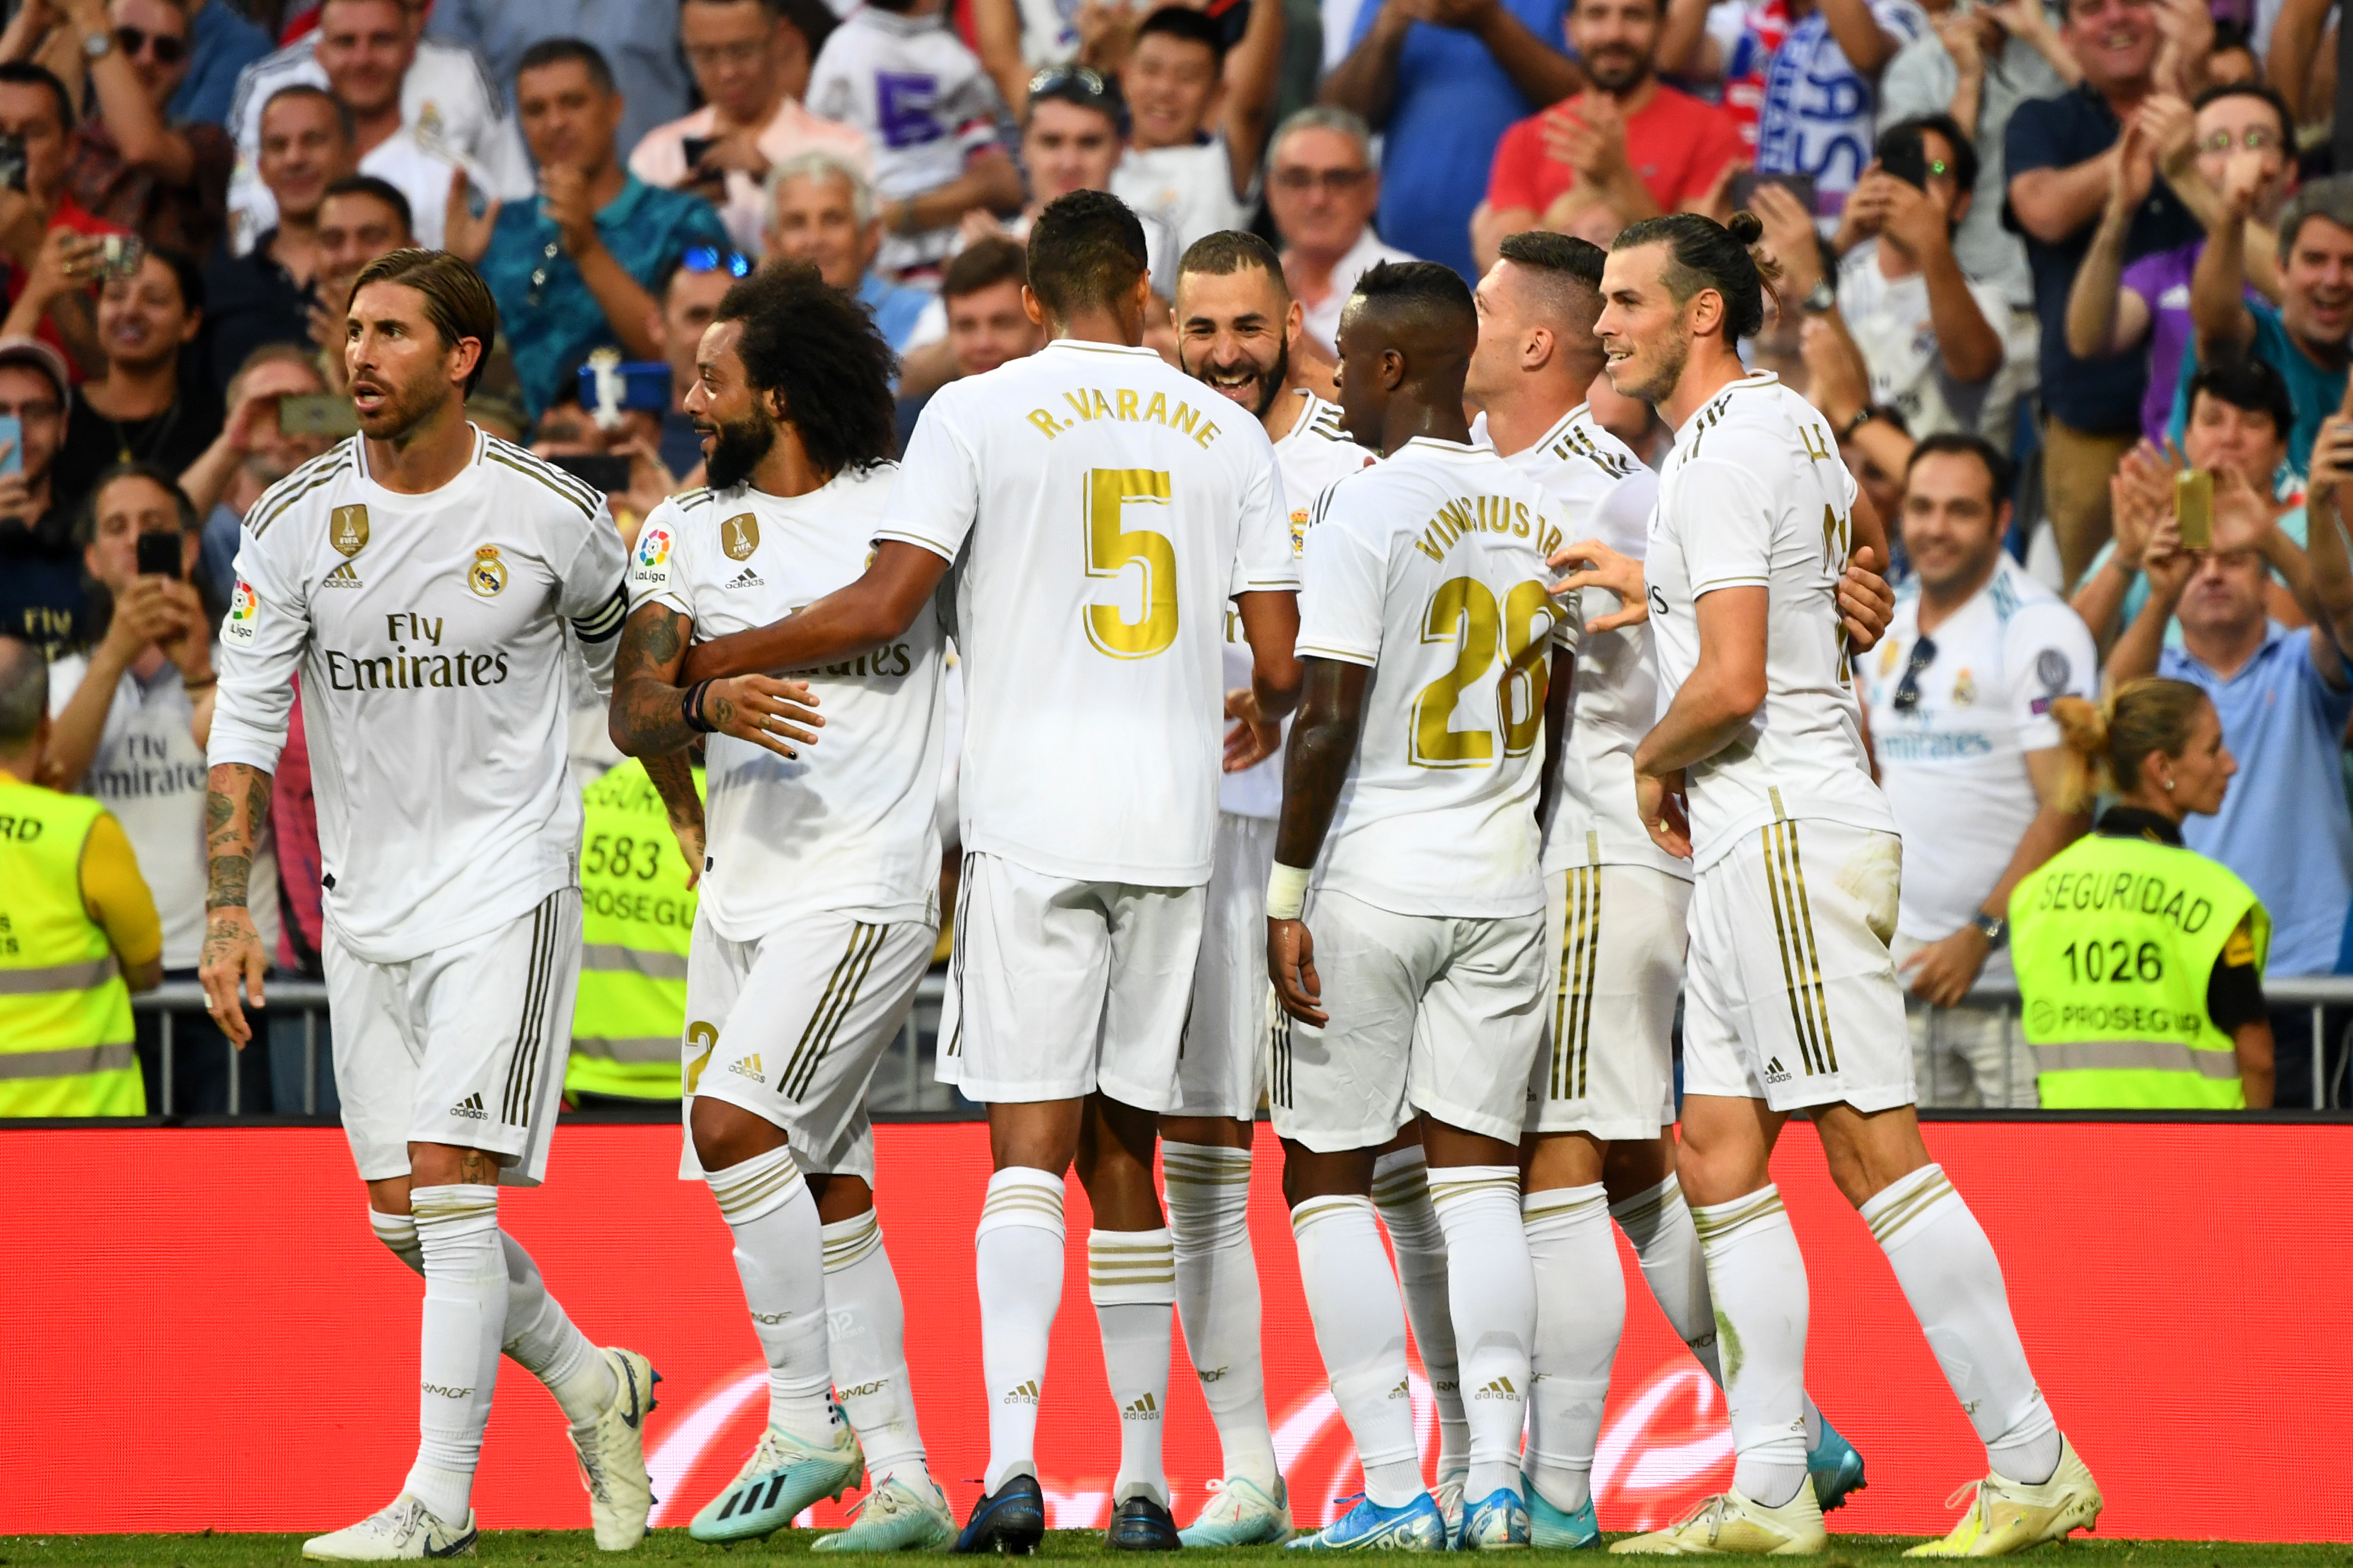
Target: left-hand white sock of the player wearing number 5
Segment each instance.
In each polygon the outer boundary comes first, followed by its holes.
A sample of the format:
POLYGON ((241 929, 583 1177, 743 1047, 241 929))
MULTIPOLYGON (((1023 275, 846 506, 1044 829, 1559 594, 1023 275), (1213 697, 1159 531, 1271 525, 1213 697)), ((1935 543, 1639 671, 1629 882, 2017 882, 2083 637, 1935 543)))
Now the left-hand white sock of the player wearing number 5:
POLYGON ((1038 1399, 1061 1307, 1061 1178, 1007 1166, 988 1178, 972 1234, 981 1288, 981 1382, 988 1387, 988 1472, 981 1490, 1038 1474, 1038 1399))

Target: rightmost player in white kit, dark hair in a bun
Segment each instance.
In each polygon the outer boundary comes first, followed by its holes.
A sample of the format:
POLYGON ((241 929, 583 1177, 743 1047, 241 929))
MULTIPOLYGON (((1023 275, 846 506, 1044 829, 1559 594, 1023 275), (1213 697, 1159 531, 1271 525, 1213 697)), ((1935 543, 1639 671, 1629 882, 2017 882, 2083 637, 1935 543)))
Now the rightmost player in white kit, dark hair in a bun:
POLYGON ((1821 416, 1737 346, 1765 317, 1760 223, 1675 214, 1628 226, 1595 324, 1609 383, 1675 425, 1645 559, 1668 703, 1633 755, 1652 842, 1689 856, 1682 1150, 1727 1345, 1732 1488, 1614 1552, 1800 1554, 1826 1535, 1807 1476, 1807 1279, 1767 1161, 1809 1110, 1991 1474, 1932 1556, 1993 1556, 2099 1516, 2099 1488, 2026 1366, 2002 1269, 1929 1161, 1894 936, 1901 844, 1871 780, 1838 576, 1849 536, 1882 548, 1821 416))

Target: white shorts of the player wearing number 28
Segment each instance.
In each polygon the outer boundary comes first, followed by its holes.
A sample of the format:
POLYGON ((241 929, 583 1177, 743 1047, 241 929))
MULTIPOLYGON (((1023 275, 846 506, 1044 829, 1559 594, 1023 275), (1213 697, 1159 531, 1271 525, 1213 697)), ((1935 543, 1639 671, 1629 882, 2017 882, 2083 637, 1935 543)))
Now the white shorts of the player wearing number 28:
POLYGON ((1374 1150, 1421 1110, 1518 1143, 1544 1044, 1544 914, 1395 914, 1318 889, 1306 924, 1329 1023, 1299 1023, 1268 990, 1275 1133, 1318 1154, 1374 1150))

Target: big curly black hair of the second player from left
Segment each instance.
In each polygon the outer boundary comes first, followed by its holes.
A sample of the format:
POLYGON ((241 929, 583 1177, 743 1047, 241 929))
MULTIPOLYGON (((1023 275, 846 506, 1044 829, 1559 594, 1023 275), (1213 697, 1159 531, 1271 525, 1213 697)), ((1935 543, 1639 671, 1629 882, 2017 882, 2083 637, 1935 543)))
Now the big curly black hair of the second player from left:
POLYGON ((784 416, 821 470, 866 470, 896 451, 899 355, 873 313, 814 263, 772 259, 727 289, 711 320, 744 322, 744 378, 758 393, 784 395, 784 416))

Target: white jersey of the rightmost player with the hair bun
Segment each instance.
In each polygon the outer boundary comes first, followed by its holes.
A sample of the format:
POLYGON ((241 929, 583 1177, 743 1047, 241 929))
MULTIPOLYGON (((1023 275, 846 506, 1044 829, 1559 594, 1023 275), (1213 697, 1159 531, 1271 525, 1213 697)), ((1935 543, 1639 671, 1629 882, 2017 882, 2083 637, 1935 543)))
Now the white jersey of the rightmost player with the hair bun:
POLYGON ((1854 475, 1831 425, 1772 371, 1711 397, 1666 454, 1642 567, 1659 712, 1699 668, 1699 597, 1767 590, 1765 703, 1685 773, 1697 870, 1774 818, 1897 827, 1871 783, 1838 614, 1852 515, 1854 475))

